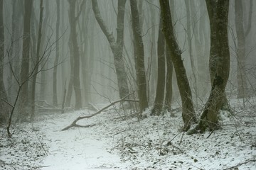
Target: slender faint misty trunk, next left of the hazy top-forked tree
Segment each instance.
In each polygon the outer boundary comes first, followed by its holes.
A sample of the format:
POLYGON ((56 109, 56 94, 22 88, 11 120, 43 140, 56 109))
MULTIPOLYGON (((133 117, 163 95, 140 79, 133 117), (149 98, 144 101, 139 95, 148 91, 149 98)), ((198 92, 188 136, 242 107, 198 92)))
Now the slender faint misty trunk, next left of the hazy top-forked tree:
POLYGON ((57 96, 57 65, 60 57, 60 48, 59 48, 59 31, 60 31, 60 0, 56 1, 57 5, 57 22, 56 22, 56 56, 54 61, 53 68, 53 106, 58 106, 58 96, 57 96))

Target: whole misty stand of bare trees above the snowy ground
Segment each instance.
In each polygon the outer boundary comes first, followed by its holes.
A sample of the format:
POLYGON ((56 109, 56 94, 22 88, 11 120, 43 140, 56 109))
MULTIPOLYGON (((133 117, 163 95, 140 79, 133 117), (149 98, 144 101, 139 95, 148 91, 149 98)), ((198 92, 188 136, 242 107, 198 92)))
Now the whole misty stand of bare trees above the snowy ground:
POLYGON ((0 123, 125 98, 120 104, 138 118, 179 103, 183 130, 198 123, 203 132, 218 128, 230 98, 255 96, 252 0, 0 0, 0 7, 0 123))

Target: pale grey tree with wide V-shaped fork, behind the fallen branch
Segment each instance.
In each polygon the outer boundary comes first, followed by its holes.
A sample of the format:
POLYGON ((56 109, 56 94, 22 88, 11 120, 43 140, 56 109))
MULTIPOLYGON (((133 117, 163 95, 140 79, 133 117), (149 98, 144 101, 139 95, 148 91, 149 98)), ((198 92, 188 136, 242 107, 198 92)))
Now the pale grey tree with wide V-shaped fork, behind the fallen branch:
POLYGON ((127 74, 124 67, 123 58, 123 47, 124 47, 124 9, 126 0, 118 1, 118 13, 117 13, 117 40, 114 39, 114 35, 110 33, 107 29, 105 22, 102 19, 100 10, 97 4, 97 0, 92 0, 92 10, 95 13, 95 18, 99 24, 102 32, 105 34, 108 42, 110 43, 110 48, 114 55, 114 67, 117 73, 117 85, 119 89, 119 98, 123 98, 129 94, 128 84, 127 84, 127 74))

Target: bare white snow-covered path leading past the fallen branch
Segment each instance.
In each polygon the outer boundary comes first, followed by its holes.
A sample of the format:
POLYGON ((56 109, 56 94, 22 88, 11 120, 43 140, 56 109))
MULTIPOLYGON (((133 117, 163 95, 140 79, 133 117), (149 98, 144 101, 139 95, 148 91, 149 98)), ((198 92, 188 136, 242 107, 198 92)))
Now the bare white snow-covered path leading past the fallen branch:
POLYGON ((107 152, 107 139, 100 137, 95 128, 60 131, 79 115, 71 114, 63 116, 65 119, 50 119, 38 123, 38 128, 47 134, 46 140, 49 140, 50 147, 48 156, 41 162, 42 170, 114 169, 114 165, 120 162, 119 157, 107 152))

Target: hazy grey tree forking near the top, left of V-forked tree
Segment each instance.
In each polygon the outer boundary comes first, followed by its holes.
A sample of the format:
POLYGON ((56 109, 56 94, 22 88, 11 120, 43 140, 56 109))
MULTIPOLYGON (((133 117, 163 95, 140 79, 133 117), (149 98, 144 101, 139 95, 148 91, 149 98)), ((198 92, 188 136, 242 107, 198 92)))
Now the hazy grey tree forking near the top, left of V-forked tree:
POLYGON ((73 88, 75 91, 75 109, 78 110, 82 108, 82 94, 80 89, 80 51, 78 47, 78 40, 77 40, 77 22, 78 18, 80 16, 80 13, 82 12, 82 6, 85 4, 85 1, 82 1, 82 4, 80 5, 79 11, 77 14, 75 14, 75 3, 76 1, 68 0, 68 3, 70 5, 70 11, 69 11, 69 22, 70 22, 70 58, 73 58, 73 75, 71 74, 70 77, 73 76, 73 88))

